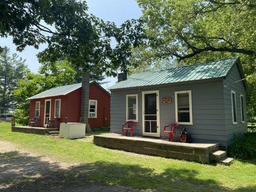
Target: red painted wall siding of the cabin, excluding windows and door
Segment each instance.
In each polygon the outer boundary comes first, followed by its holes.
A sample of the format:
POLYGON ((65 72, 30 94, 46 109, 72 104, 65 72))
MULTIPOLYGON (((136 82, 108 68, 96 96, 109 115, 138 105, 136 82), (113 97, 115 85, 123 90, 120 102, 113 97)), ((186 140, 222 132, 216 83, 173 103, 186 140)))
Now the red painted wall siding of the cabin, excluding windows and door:
MULTIPOLYGON (((91 128, 110 126, 110 95, 98 87, 97 84, 90 84, 89 99, 97 100, 97 118, 89 118, 91 128)), ((81 88, 67 94, 66 96, 45 97, 30 100, 29 119, 35 117, 36 102, 40 101, 40 120, 38 127, 44 126, 45 100, 51 99, 50 119, 54 119, 55 99, 61 99, 61 118, 56 121, 56 126, 64 122, 67 117, 68 122, 79 122, 81 107, 81 88)))

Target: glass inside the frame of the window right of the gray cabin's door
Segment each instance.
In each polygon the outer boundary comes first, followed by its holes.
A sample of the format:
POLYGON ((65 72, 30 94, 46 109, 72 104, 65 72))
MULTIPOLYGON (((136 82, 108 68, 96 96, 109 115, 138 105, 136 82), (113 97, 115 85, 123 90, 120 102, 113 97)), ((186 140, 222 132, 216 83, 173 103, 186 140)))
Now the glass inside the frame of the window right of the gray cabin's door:
POLYGON ((189 93, 177 94, 178 102, 178 121, 190 122, 190 106, 189 106, 189 93))

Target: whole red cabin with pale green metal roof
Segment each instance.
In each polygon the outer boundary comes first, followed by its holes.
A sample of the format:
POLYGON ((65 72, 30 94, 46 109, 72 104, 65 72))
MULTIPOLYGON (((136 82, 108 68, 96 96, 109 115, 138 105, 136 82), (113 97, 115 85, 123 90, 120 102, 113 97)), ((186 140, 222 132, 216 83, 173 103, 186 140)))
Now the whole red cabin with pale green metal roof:
MULTIPOLYGON (((81 117, 82 84, 70 84, 51 88, 29 97, 29 119, 39 116, 37 127, 45 127, 48 120, 55 119, 55 127, 65 118, 79 122, 81 117)), ((89 117, 91 128, 110 126, 110 93, 97 82, 90 83, 89 117)))

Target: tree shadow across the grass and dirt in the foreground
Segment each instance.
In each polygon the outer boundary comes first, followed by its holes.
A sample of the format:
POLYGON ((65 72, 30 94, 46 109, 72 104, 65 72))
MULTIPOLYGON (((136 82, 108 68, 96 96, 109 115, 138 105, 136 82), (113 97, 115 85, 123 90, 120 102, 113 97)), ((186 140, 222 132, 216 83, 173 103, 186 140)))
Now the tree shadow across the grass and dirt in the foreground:
MULTIPOLYGON (((3 192, 137 191, 129 187, 175 192, 232 191, 214 180, 198 179, 197 174, 195 170, 173 168, 157 174, 150 168, 102 161, 68 167, 16 151, 0 154, 0 190, 3 192)), ((247 187, 232 192, 253 190, 247 187)))

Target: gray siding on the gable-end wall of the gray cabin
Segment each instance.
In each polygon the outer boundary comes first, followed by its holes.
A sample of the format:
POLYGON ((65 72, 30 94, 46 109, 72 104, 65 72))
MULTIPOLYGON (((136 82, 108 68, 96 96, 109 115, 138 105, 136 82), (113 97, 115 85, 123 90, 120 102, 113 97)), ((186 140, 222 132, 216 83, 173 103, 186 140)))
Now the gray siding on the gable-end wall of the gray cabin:
POLYGON ((224 103, 225 103, 225 126, 226 135, 228 143, 231 142, 233 134, 243 133, 247 130, 247 119, 246 119, 246 97, 245 97, 245 87, 243 81, 236 82, 243 79, 237 64, 235 64, 226 79, 224 79, 224 85, 229 84, 229 86, 224 87, 224 103), (236 83, 234 83, 236 82, 236 83), (232 100, 231 100, 231 90, 235 92, 236 97, 236 116, 237 124, 232 123, 232 100), (244 96, 244 123, 242 123, 241 118, 241 102, 240 94, 244 96))

